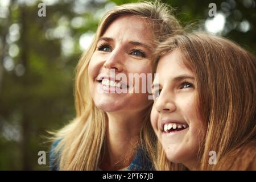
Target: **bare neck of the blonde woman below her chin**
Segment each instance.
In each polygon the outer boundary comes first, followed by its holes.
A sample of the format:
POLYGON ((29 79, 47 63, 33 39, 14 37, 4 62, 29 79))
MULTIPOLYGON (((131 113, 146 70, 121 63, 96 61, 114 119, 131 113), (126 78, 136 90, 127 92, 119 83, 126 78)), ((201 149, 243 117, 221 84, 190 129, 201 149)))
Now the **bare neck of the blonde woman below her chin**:
POLYGON ((129 166, 135 157, 141 126, 140 114, 108 113, 106 145, 100 165, 102 170, 118 170, 129 166))

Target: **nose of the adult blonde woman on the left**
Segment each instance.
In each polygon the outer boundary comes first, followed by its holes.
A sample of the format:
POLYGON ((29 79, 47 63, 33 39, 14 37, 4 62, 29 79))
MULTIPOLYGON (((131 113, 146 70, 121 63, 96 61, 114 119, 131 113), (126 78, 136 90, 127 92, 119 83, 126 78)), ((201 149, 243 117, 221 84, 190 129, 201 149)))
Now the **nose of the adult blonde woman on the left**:
POLYGON ((123 63, 125 62, 125 53, 121 49, 114 49, 109 53, 104 67, 109 69, 115 69, 117 72, 122 72, 123 63))

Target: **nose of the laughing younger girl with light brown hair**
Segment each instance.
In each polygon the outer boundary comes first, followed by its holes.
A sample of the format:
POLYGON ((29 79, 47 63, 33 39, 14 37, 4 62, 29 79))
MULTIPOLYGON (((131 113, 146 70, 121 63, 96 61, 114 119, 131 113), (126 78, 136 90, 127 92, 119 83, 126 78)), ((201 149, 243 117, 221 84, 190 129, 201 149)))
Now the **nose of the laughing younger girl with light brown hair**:
POLYGON ((155 108, 158 113, 168 113, 176 110, 176 105, 171 94, 160 93, 155 101, 155 108))

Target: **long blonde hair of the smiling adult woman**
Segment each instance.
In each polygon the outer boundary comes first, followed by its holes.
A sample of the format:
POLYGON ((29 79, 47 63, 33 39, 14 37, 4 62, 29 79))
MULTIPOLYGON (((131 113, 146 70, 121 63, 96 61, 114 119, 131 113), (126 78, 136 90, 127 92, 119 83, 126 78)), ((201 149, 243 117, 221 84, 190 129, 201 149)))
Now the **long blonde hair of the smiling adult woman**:
MULTIPOLYGON (((158 1, 129 3, 117 6, 105 14, 98 26, 96 36, 81 56, 76 68, 76 118, 57 131, 53 138, 60 140, 55 148, 55 162, 59 163, 60 170, 96 170, 100 165, 105 143, 107 115, 104 111, 97 109, 90 96, 88 64, 96 49, 98 39, 115 19, 123 15, 145 18, 155 36, 152 39, 157 41, 161 41, 168 34, 181 31, 179 22, 172 16, 171 9, 158 1)), ((140 135, 148 157, 153 160, 156 139, 150 125, 150 110, 151 107, 148 107, 144 114, 140 135)))

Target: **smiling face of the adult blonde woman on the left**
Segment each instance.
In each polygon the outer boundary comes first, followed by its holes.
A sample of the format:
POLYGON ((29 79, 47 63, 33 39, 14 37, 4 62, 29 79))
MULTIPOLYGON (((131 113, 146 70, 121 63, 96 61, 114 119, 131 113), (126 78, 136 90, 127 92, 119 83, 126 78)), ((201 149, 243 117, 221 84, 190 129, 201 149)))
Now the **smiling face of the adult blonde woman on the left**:
POLYGON ((143 18, 121 16, 98 40, 89 63, 89 87, 94 103, 106 112, 141 111, 151 102, 147 93, 135 93, 145 82, 129 74, 151 73, 153 38, 143 18), (123 76, 126 76, 126 80, 123 76), (127 92, 120 92, 125 89, 127 92))

